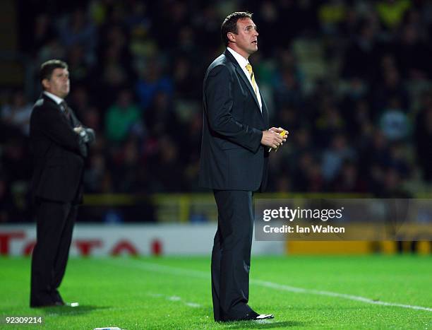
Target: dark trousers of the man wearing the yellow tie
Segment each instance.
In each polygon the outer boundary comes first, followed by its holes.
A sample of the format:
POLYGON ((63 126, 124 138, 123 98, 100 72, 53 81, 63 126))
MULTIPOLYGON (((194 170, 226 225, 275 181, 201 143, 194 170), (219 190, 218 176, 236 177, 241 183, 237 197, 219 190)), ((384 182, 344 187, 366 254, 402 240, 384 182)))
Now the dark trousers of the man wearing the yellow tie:
POLYGON ((213 312, 215 321, 229 321, 251 312, 247 303, 253 233, 252 191, 213 192, 218 211, 212 249, 213 312))

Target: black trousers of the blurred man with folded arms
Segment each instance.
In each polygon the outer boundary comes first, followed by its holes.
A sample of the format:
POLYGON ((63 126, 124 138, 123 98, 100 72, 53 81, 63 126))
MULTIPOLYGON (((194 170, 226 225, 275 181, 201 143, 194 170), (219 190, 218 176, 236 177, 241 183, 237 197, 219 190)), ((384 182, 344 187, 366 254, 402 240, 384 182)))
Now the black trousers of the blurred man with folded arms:
POLYGON ((61 300, 57 289, 66 271, 77 209, 76 204, 37 201, 30 306, 51 305, 61 300))

